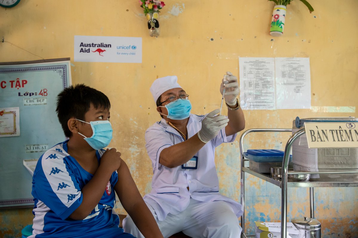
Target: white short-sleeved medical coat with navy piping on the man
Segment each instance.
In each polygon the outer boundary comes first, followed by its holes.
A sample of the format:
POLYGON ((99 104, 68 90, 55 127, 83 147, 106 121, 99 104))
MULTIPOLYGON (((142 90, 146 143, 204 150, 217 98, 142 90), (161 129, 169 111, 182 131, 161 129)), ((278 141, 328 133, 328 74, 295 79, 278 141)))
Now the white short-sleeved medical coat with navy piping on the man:
MULTIPOLYGON (((204 116, 190 114, 188 138, 201 129, 203 118, 204 116)), ((227 201, 237 217, 242 215, 240 203, 219 193, 219 180, 214 163, 215 147, 221 143, 233 142, 235 138, 236 134, 226 136, 223 128, 195 154, 198 157, 197 169, 182 169, 182 166, 168 168, 159 163, 160 153, 167 147, 183 142, 183 137, 163 118, 147 129, 145 141, 152 161, 153 179, 152 191, 144 196, 144 200, 154 208, 159 221, 163 221, 168 213, 175 215, 183 212, 189 205, 190 197, 202 202, 227 201)))

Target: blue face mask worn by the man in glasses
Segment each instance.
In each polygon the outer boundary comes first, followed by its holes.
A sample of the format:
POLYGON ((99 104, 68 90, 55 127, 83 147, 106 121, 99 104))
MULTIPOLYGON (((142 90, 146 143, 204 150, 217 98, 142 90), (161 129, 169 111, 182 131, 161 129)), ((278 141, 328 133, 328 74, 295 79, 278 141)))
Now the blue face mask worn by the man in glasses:
POLYGON ((175 102, 170 102, 165 105, 165 108, 168 110, 168 115, 165 115, 166 117, 173 120, 183 120, 189 117, 190 110, 192 110, 192 104, 189 99, 178 99, 175 102))

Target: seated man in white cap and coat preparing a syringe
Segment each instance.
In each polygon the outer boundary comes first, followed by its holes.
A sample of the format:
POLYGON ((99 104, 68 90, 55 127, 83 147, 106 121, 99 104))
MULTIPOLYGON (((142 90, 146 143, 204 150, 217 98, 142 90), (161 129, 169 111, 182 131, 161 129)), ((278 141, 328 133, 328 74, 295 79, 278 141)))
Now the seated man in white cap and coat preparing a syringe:
MULTIPOLYGON (((156 79, 150 87, 162 118, 145 133, 153 179, 144 201, 164 237, 180 231, 192 238, 240 237, 242 206, 219 193, 214 163, 215 148, 233 142, 245 128, 237 77, 226 73, 229 82, 221 83, 220 92, 226 88, 227 117, 217 115, 219 109, 201 116, 190 113, 189 95, 176 76, 156 79)), ((144 237, 130 216, 123 228, 144 237)))

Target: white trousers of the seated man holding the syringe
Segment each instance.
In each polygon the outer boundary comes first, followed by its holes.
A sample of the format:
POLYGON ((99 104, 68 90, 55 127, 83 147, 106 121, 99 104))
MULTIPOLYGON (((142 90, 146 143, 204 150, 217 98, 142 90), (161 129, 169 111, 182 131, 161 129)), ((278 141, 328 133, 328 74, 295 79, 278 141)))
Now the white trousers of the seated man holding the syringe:
MULTIPOLYGON (((150 211, 158 223, 164 238, 182 231, 192 238, 240 238, 241 227, 232 207, 225 201, 200 202, 190 198, 185 211, 168 214, 164 221, 158 217, 150 204, 150 211)), ((123 229, 137 238, 144 238, 128 215, 123 220, 123 229)))

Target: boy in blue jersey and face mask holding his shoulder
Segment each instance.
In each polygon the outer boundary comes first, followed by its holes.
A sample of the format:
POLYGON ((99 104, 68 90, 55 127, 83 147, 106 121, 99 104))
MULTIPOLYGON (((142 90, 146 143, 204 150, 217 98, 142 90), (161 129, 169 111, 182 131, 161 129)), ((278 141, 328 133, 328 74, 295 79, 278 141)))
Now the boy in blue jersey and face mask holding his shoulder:
POLYGON ((59 93, 56 112, 69 140, 39 158, 29 238, 134 238, 118 227, 113 189, 145 237, 163 237, 121 153, 102 150, 112 138, 107 96, 83 84, 70 86, 59 93))

